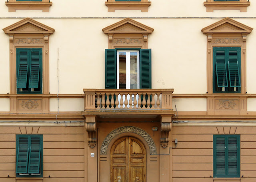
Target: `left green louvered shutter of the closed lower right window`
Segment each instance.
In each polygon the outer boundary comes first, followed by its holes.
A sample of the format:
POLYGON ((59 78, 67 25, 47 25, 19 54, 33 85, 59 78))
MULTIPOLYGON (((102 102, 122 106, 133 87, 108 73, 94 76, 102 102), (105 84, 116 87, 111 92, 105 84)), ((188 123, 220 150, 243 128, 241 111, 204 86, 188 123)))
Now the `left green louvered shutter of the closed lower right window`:
POLYGON ((214 138, 214 177, 225 175, 225 137, 214 138))

